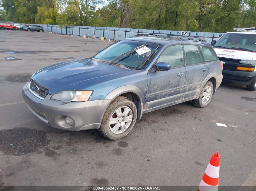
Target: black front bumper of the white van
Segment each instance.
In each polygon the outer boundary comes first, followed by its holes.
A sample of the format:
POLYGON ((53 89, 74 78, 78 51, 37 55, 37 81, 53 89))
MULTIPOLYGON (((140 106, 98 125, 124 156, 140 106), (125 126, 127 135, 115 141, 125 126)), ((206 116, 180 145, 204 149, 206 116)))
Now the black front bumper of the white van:
POLYGON ((256 72, 246 71, 222 71, 223 80, 231 81, 237 84, 250 85, 254 78, 256 78, 256 72))

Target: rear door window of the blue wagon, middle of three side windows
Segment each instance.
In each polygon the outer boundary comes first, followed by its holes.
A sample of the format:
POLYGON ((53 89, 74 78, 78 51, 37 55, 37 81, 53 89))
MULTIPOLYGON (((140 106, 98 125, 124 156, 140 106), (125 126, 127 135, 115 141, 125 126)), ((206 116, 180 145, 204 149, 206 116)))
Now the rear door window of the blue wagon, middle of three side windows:
POLYGON ((193 65, 193 64, 199 64, 203 62, 197 46, 184 45, 184 51, 185 51, 185 65, 193 65))

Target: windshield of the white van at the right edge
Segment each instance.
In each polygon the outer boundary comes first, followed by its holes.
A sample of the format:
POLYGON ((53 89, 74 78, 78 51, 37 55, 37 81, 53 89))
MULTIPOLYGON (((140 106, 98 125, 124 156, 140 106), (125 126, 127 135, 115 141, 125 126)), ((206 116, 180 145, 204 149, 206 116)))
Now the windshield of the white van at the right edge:
POLYGON ((221 46, 227 49, 241 49, 245 51, 256 52, 256 33, 243 34, 243 33, 227 33, 221 37, 214 47, 221 46))

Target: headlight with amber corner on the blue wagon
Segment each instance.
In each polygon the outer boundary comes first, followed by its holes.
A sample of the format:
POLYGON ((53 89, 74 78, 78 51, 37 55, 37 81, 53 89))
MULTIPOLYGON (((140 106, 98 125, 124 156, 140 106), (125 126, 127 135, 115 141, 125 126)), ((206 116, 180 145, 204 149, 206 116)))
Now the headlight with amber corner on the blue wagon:
POLYGON ((51 99, 60 100, 63 103, 71 101, 87 101, 92 94, 92 91, 59 91, 52 95, 51 99))

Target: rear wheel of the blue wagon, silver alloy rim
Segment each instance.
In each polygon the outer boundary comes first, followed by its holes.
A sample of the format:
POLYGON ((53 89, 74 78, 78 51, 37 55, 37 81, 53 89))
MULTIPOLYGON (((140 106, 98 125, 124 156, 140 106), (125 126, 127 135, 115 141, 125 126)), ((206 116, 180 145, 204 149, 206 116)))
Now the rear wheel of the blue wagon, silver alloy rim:
POLYGON ((197 107, 206 107, 211 101, 212 93, 213 84, 211 81, 207 81, 200 93, 199 98, 196 100, 192 100, 193 105, 197 107))

